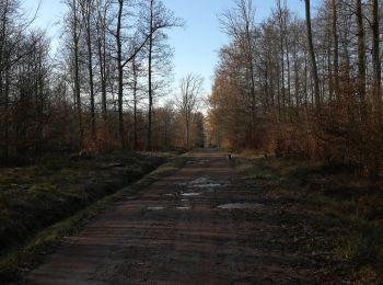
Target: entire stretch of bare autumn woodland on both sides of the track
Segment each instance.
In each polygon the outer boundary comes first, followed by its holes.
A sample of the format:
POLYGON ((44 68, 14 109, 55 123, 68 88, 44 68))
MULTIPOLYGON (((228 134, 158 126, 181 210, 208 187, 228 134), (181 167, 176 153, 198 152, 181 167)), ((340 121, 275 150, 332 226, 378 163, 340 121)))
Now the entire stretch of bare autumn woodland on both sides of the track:
POLYGON ((235 0, 219 16, 230 43, 207 118, 198 75, 170 90, 166 32, 184 23, 161 0, 65 0, 56 53, 22 3, 0 1, 1 164, 193 148, 206 135, 211 146, 383 171, 382 1, 305 0, 302 19, 277 0, 258 23, 256 3, 235 0))

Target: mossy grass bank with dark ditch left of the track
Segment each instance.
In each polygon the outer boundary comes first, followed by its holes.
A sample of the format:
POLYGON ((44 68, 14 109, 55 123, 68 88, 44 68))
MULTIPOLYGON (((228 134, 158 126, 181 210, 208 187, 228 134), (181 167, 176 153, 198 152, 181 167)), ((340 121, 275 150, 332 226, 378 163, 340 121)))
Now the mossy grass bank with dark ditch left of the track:
POLYGON ((0 282, 20 280, 23 272, 38 264, 62 237, 79 230, 115 200, 132 195, 174 171, 183 161, 171 159, 150 175, 126 186, 166 159, 119 152, 2 169, 0 282))

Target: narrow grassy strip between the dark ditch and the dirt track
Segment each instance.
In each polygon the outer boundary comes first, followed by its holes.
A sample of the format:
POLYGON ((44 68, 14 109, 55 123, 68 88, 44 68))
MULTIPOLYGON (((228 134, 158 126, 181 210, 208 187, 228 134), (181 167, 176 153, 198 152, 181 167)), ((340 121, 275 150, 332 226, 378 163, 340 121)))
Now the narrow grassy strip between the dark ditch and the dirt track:
POLYGON ((140 180, 36 233, 25 246, 0 260, 0 282, 22 284, 27 273, 43 264, 47 255, 65 242, 66 237, 79 233, 100 215, 113 210, 118 201, 127 197, 135 198, 153 182, 175 173, 184 166, 186 155, 171 158, 140 180))

